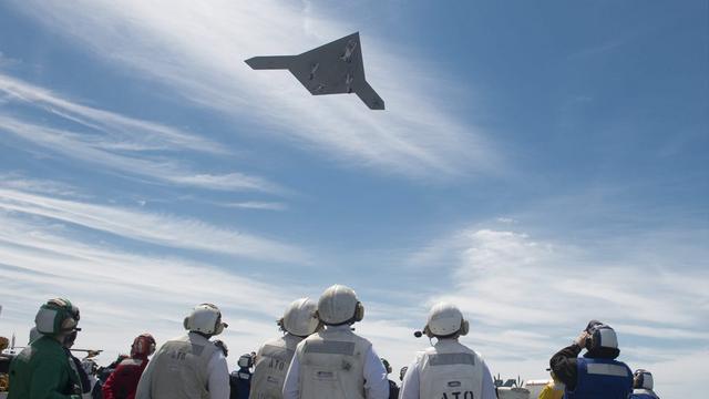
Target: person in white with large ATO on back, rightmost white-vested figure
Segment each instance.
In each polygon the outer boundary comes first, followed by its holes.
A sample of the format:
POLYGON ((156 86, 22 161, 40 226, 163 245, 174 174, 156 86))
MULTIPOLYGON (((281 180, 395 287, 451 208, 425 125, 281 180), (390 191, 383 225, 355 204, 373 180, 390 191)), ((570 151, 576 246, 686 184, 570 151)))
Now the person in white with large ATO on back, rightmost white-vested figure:
POLYGON ((423 332, 436 342, 417 354, 403 377, 399 399, 495 399, 490 369, 458 340, 469 329, 455 305, 434 305, 423 332))

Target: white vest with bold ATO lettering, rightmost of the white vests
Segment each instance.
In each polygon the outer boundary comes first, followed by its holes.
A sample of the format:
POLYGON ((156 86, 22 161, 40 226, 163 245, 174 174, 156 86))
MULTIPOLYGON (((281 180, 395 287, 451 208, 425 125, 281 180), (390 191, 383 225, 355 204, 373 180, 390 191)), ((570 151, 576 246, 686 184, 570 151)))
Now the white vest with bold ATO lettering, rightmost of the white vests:
POLYGON ((421 399, 479 399, 483 397, 484 362, 458 339, 441 339, 420 352, 421 399))

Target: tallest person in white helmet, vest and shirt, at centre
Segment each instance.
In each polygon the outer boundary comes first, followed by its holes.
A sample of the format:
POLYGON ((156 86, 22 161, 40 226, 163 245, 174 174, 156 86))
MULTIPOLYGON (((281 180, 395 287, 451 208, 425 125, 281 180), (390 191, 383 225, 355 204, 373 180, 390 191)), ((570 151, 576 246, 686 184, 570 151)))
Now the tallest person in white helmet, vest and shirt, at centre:
POLYGON ((367 339, 351 326, 364 317, 357 294, 333 285, 318 300, 323 330, 304 339, 284 385, 284 399, 388 399, 387 370, 367 339))

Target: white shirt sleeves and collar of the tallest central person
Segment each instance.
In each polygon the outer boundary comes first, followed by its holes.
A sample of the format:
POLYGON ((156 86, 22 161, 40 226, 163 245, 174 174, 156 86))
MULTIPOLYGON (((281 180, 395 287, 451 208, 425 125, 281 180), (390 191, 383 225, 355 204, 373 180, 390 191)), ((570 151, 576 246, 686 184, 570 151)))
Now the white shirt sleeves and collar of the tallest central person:
MULTIPOLYGON (((329 329, 349 329, 349 325, 327 327, 329 329)), ((387 370, 381 362, 379 355, 370 347, 364 355, 364 392, 367 399, 389 399, 389 380, 387 379, 387 370)), ((284 399, 300 399, 300 390, 298 381, 300 379, 300 360, 298 356, 294 356, 288 368, 286 382, 284 383, 284 399)), ((304 398, 309 399, 309 398, 304 398)))

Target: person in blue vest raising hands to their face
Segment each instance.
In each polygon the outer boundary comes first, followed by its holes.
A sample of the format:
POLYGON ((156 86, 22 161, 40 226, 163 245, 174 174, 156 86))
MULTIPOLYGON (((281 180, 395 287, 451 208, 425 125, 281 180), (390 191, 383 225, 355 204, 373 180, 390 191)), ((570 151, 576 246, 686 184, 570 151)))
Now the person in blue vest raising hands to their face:
POLYGON ((564 399, 627 399, 633 390, 633 371, 623 361, 616 331, 590 320, 574 342, 549 360, 552 371, 564 382, 564 399), (583 357, 580 351, 586 349, 583 357))

